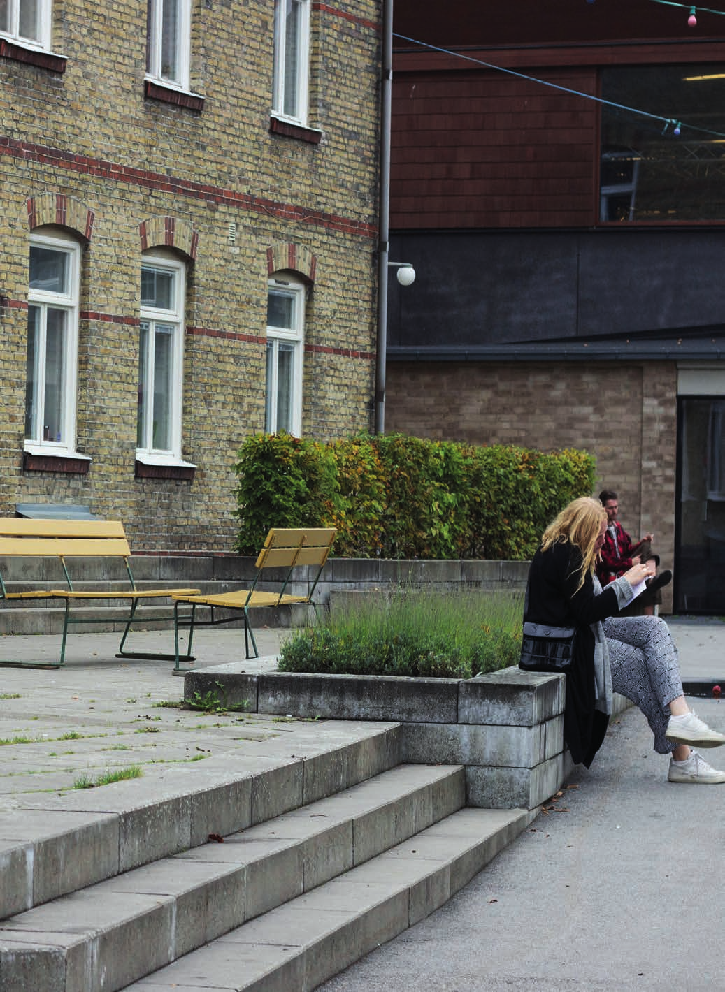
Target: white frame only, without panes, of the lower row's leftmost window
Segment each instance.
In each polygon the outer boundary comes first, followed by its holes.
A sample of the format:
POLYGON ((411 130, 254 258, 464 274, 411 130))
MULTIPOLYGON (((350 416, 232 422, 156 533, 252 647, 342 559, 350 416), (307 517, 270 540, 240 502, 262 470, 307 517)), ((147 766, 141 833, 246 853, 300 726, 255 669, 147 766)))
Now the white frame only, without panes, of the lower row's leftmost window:
MULTIPOLYGON (((78 365, 78 293, 80 281, 80 245, 71 238, 56 234, 34 234, 31 247, 47 248, 68 256, 66 292, 48 290, 28 290, 28 317, 32 308, 39 310, 38 336, 35 345, 35 394, 31 399, 31 430, 25 438, 25 450, 60 456, 75 453, 75 409, 78 365), (66 313, 63 380, 61 398, 61 437, 50 436, 46 426, 46 358, 48 311, 62 310, 66 313)), ((29 253, 30 257, 30 253, 29 253)), ((30 327, 29 327, 30 333, 30 327)), ((29 341, 30 343, 30 341, 29 341)), ((26 380, 26 422, 28 415, 28 383, 26 380)))

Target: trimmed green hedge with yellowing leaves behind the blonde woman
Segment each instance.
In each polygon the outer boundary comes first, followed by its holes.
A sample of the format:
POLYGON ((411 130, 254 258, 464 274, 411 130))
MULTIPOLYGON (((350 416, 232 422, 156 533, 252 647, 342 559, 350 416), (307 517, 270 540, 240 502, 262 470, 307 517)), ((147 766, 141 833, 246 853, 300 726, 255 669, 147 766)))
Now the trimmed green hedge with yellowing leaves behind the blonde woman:
POLYGON ((322 443, 253 434, 234 463, 239 531, 253 555, 270 527, 330 527, 347 558, 534 554, 562 506, 594 487, 594 458, 406 434, 322 443))

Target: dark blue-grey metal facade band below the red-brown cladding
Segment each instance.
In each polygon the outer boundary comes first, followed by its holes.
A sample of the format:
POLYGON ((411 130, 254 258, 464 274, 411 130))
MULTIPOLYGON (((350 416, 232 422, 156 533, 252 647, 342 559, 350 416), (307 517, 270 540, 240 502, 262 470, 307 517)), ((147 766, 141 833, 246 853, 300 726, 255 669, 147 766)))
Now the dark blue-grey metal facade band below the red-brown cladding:
POLYGON ((418 231, 396 233, 391 254, 417 278, 390 281, 390 349, 676 341, 725 322, 725 233, 712 228, 418 231))

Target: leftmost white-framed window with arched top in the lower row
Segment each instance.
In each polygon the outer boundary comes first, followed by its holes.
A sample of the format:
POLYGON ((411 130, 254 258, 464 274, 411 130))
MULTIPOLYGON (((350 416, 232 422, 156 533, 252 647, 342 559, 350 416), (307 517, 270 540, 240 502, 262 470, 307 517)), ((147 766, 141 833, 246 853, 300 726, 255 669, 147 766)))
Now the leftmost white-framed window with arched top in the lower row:
POLYGON ((55 235, 30 244, 25 446, 75 447, 80 247, 55 235))

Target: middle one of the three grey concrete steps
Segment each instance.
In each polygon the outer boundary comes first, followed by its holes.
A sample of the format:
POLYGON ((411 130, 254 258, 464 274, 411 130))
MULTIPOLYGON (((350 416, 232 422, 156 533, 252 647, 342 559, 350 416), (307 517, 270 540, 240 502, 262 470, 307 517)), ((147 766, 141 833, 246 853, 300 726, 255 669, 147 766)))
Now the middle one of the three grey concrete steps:
POLYGON ((400 765, 18 914, 0 928, 2 990, 113 992, 450 816, 465 792, 460 766, 400 765))

